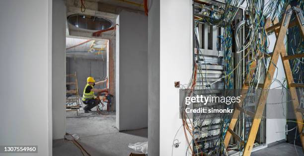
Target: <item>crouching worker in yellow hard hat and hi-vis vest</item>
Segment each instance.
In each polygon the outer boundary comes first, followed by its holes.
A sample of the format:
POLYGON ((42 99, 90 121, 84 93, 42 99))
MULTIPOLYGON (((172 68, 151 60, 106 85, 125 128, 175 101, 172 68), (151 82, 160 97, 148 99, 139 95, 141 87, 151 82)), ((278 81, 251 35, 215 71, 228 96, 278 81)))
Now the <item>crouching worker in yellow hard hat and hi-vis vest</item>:
POLYGON ((95 79, 92 77, 88 77, 86 79, 87 84, 85 85, 83 89, 82 94, 82 102, 86 104, 86 106, 83 108, 84 113, 89 113, 91 111, 91 108, 95 107, 98 103, 97 100, 94 97, 94 92, 103 92, 107 91, 107 88, 104 89, 96 89, 94 88, 95 85, 101 85, 107 81, 107 79, 95 82, 95 79))

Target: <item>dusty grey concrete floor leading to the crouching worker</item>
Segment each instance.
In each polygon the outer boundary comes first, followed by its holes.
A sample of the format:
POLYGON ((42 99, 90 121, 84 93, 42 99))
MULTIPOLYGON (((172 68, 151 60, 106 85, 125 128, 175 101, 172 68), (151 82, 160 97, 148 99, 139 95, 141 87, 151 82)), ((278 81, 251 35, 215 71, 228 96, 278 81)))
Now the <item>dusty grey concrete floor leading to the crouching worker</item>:
MULTIPOLYGON (((80 111, 67 112, 67 132, 78 134, 78 142, 91 156, 129 156, 138 153, 129 143, 148 141, 148 129, 119 132, 115 127, 115 112, 109 115, 80 111)), ((67 140, 53 141, 53 156, 82 156, 80 150, 67 140)))

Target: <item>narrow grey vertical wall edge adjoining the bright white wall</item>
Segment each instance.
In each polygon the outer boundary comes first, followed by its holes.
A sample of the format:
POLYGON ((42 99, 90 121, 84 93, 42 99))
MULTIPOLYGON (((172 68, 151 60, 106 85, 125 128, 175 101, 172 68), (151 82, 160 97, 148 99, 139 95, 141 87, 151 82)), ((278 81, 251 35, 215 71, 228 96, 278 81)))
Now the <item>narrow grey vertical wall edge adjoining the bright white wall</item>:
POLYGON ((148 16, 148 154, 159 156, 159 0, 149 1, 148 16))

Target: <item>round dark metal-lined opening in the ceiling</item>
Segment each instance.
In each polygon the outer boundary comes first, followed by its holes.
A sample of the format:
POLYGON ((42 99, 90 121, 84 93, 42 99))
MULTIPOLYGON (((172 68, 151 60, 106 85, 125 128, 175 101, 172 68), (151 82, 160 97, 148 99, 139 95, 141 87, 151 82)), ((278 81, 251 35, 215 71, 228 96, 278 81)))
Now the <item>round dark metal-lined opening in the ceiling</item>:
POLYGON ((108 19, 81 14, 72 14, 68 16, 68 22, 77 28, 97 31, 111 28, 113 25, 108 19))

